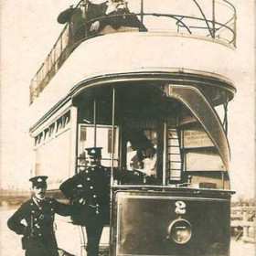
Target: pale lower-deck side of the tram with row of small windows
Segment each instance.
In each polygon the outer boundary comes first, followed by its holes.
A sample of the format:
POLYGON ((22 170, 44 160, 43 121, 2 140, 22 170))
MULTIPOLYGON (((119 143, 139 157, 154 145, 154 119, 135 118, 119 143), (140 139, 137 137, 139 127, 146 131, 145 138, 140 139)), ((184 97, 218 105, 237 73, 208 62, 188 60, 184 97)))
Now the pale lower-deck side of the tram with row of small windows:
POLYGON ((70 112, 66 112, 52 122, 42 123, 32 136, 34 145, 34 175, 49 176, 48 189, 58 189, 70 176, 72 153, 72 129, 70 112))

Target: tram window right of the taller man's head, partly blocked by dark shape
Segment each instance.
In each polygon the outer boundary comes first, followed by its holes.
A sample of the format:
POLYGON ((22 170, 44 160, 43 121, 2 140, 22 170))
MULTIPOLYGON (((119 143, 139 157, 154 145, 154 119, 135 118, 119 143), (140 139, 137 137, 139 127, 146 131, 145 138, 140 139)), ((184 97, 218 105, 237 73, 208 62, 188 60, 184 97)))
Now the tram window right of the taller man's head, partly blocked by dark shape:
POLYGON ((126 169, 138 170, 156 177, 157 133, 154 130, 134 131, 126 144, 126 169))

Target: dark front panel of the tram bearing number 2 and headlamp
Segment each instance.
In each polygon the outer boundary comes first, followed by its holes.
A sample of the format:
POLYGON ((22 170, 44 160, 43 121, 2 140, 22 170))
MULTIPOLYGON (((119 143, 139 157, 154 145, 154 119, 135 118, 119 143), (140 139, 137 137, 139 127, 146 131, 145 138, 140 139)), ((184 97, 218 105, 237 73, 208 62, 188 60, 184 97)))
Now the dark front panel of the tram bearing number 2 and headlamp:
POLYGON ((229 255, 229 198, 118 192, 114 255, 229 255))

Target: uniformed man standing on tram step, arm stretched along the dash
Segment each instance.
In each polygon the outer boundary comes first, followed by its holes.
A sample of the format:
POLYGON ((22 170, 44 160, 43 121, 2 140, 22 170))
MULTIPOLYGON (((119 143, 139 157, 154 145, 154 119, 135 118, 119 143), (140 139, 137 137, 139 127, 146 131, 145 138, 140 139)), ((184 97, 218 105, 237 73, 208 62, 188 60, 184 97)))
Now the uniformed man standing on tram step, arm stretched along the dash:
MULTIPOLYGON (((111 168, 101 165, 101 147, 85 151, 87 166, 62 183, 59 189, 69 197, 72 205, 80 208, 73 221, 86 228, 87 255, 98 256, 102 229, 110 219, 111 168)), ((114 178, 128 181, 137 176, 133 172, 114 170, 114 178)))

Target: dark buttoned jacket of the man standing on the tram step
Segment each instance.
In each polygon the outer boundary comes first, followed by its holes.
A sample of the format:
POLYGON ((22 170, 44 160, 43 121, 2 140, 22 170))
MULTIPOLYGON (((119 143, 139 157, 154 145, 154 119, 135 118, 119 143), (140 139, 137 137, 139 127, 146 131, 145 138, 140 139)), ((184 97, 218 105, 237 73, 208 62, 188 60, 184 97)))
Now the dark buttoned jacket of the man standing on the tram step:
MULTIPOLYGON (((138 172, 122 171, 114 169, 114 179, 123 183, 141 183, 142 176, 138 172)), ((86 225, 91 219, 103 219, 108 223, 110 211, 110 177, 111 168, 100 166, 87 166, 75 176, 62 183, 59 189, 69 197, 71 204, 79 206, 73 216, 75 224, 86 225), (80 198, 83 203, 80 204, 80 198)))

